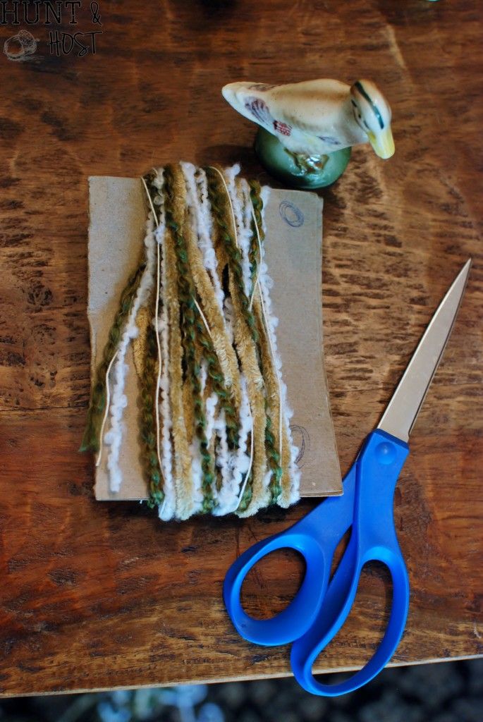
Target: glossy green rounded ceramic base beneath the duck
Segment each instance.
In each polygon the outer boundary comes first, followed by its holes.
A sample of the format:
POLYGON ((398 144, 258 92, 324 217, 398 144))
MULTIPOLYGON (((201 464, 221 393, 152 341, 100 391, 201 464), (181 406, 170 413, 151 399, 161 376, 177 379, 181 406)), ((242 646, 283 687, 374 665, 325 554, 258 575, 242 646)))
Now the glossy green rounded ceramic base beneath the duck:
POLYGON ((351 149, 343 148, 328 153, 323 168, 300 168, 295 157, 284 149, 279 140, 264 128, 259 128, 255 139, 255 152, 266 170, 292 188, 323 188, 339 178, 347 168, 351 149))

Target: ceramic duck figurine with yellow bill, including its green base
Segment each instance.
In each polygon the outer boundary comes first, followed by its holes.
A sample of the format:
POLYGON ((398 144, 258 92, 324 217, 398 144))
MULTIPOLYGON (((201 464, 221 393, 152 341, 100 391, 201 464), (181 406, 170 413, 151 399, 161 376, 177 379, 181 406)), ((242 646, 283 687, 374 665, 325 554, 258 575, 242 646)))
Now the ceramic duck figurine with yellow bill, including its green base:
POLYGON ((379 157, 393 155, 391 108, 370 80, 234 82, 222 95, 260 126, 255 147, 267 170, 298 188, 333 183, 353 145, 370 143, 379 157))

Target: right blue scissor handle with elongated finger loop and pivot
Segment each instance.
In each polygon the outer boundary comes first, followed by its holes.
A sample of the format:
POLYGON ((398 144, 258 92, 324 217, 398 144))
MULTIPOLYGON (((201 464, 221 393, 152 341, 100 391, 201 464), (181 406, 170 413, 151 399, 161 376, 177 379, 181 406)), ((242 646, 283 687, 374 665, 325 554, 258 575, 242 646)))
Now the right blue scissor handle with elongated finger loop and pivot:
POLYGON ((316 695, 335 697, 373 679, 387 664, 406 625, 409 580, 393 522, 393 494, 409 453, 406 443, 376 430, 367 437, 355 462, 352 536, 328 586, 313 625, 292 646, 292 669, 299 684, 316 695), (391 573, 393 601, 386 633, 373 658, 340 684, 321 684, 312 674, 316 657, 334 638, 350 612, 362 567, 383 562, 391 573))

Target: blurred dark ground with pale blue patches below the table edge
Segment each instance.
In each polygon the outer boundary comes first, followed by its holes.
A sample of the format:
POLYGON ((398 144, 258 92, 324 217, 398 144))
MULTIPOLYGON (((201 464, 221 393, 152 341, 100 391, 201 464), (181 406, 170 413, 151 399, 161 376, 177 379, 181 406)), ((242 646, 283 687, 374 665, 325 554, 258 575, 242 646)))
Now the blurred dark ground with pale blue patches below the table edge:
POLYGON ((334 699, 287 678, 0 700, 0 722, 137 721, 483 722, 483 659, 386 669, 334 699))

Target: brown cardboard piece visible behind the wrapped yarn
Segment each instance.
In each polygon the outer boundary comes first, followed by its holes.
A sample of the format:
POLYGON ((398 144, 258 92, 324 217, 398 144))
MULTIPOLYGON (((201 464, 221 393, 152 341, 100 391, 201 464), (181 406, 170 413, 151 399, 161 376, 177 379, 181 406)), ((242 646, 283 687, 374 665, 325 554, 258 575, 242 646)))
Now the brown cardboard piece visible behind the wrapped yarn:
MULTIPOLYGON (((89 303, 92 375, 103 354, 119 297, 144 252, 147 199, 139 178, 94 176, 90 183, 89 303)), ((292 433, 300 448, 300 495, 341 494, 341 473, 323 367, 321 238, 322 201, 315 193, 272 190, 266 207, 266 262, 274 281, 271 300, 279 318, 277 343, 292 433)), ((126 395, 136 399, 138 380, 131 350, 126 395)), ((110 492, 107 449, 96 468, 97 500, 147 497, 138 445, 138 408, 124 412, 120 466, 123 484, 110 492)))

